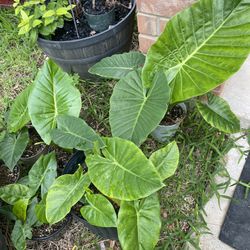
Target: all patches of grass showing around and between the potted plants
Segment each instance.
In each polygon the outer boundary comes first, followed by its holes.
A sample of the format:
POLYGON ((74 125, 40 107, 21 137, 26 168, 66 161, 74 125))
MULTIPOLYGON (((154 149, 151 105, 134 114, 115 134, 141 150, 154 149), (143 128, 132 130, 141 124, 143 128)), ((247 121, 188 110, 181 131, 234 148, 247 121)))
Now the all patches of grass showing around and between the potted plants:
MULTIPOLYGON (((12 99, 30 84, 44 55, 36 46, 30 46, 17 35, 13 13, 0 10, 0 113, 3 114, 12 99)), ((114 81, 83 81, 78 87, 82 94, 81 117, 100 134, 110 136, 108 123, 109 98, 114 81)), ((202 208, 214 193, 226 188, 228 182, 216 184, 214 176, 229 176, 224 168, 224 155, 234 141, 224 133, 211 128, 195 109, 190 112, 174 138, 180 149, 177 173, 169 178, 160 192, 162 232, 157 249, 182 249, 190 242, 198 248, 197 239, 206 231, 202 208), (194 238, 193 232, 197 238, 194 238)), ((150 155, 164 146, 149 138, 142 149, 150 155)), ((219 197, 219 195, 218 195, 219 197)), ((109 245, 89 233, 82 224, 73 222, 60 241, 29 244, 29 249, 99 249, 109 245)), ((108 249, 108 248, 106 248, 108 249)))

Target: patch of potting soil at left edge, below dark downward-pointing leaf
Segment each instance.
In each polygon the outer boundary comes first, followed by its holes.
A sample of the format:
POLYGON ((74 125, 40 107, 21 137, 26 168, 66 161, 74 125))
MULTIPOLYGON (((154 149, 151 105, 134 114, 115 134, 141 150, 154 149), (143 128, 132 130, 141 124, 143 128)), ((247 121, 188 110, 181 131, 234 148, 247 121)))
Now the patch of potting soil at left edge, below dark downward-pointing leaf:
POLYGON ((19 177, 19 168, 10 171, 3 163, 0 163, 0 187, 15 183, 19 177))

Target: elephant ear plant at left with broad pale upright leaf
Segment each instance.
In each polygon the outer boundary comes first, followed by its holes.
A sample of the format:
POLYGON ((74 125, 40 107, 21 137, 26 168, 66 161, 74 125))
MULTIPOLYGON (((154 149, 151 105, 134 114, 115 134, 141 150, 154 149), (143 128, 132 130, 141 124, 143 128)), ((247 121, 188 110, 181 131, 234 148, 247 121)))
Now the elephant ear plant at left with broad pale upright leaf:
POLYGON ((27 123, 31 121, 43 141, 50 144, 50 131, 56 128, 58 115, 79 116, 81 97, 74 84, 73 77, 48 60, 34 82, 17 96, 8 115, 5 136, 0 142, 0 159, 10 170, 29 142, 27 123))

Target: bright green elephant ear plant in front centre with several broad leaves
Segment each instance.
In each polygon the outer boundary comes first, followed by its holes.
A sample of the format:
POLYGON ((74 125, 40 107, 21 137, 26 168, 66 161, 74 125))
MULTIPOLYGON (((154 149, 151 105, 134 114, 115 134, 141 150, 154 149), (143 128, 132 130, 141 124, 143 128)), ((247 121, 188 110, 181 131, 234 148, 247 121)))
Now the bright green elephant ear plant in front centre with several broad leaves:
POLYGON ((84 149, 87 171, 80 166, 74 174, 55 180, 46 198, 48 222, 62 220, 84 197, 82 216, 94 226, 117 227, 123 249, 153 249, 161 228, 156 192, 176 171, 177 144, 172 142, 148 159, 133 142, 99 137, 83 120, 69 116, 58 117, 51 136, 60 146, 84 149))

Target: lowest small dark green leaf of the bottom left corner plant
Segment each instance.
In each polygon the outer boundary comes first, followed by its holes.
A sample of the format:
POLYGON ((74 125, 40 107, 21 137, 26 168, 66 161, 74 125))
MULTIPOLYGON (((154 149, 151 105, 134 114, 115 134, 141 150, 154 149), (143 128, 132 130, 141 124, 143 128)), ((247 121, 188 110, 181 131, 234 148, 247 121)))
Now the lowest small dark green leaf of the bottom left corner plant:
POLYGON ((26 239, 32 238, 32 228, 17 220, 11 233, 11 241, 17 250, 26 250, 26 239))

